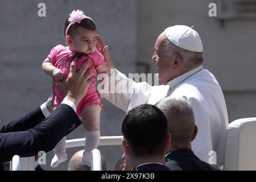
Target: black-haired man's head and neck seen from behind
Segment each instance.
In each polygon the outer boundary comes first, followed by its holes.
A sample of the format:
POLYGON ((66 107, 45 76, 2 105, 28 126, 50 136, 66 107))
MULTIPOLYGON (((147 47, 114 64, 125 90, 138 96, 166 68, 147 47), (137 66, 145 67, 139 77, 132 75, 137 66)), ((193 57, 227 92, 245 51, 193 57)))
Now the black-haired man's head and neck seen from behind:
POLYGON ((125 154, 130 155, 133 167, 146 162, 164 164, 171 135, 166 117, 156 106, 144 104, 130 110, 123 119, 122 133, 125 154))

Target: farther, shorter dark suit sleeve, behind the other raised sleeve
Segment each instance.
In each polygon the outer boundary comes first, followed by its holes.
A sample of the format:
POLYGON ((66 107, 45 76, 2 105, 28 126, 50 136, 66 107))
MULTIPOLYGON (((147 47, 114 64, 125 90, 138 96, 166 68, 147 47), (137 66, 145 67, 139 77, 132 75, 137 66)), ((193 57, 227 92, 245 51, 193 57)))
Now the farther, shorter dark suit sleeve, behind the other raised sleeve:
POLYGON ((44 118, 46 117, 44 117, 40 106, 38 106, 35 109, 28 111, 28 113, 20 115, 20 117, 3 125, 0 129, 0 133, 32 129, 32 127, 35 127, 38 123, 42 122, 44 118))

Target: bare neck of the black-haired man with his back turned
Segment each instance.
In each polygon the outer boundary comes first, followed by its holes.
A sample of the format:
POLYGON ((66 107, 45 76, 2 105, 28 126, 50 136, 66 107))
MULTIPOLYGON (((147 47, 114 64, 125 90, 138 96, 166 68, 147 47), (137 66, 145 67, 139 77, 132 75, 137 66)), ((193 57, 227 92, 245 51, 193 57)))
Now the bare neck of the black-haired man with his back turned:
POLYGON ((143 163, 162 163, 162 164, 166 163, 164 155, 162 156, 162 158, 160 156, 145 156, 145 157, 130 156, 130 158, 131 158, 131 165, 133 166, 133 168, 143 163))

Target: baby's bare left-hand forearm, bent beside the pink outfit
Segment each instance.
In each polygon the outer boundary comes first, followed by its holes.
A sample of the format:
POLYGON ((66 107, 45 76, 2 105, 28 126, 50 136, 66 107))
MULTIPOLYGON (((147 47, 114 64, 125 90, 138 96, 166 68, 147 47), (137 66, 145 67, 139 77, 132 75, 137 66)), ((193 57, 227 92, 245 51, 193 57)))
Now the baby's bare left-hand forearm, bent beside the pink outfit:
POLYGON ((42 68, 46 75, 53 77, 55 80, 61 81, 63 79, 64 73, 59 68, 56 68, 48 57, 44 60, 42 68))

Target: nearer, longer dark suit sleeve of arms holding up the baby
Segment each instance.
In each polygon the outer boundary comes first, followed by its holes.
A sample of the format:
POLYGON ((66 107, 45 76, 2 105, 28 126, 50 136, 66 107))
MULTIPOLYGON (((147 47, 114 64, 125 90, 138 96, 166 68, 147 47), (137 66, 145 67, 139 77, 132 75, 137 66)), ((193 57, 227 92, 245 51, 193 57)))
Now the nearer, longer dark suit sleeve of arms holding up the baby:
POLYGON ((49 117, 26 131, 0 133, 0 163, 14 155, 34 156, 52 150, 59 140, 81 124, 72 107, 61 104, 49 117))

